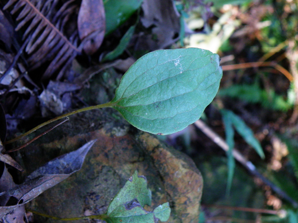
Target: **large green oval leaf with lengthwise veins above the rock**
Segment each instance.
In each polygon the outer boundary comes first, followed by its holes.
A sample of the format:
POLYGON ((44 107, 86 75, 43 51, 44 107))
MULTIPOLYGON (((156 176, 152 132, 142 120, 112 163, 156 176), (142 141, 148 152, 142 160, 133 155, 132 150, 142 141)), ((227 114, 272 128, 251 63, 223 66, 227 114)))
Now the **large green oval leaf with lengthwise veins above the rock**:
POLYGON ((198 48, 159 50, 122 77, 111 107, 135 127, 171 134, 198 120, 222 78, 217 54, 198 48))

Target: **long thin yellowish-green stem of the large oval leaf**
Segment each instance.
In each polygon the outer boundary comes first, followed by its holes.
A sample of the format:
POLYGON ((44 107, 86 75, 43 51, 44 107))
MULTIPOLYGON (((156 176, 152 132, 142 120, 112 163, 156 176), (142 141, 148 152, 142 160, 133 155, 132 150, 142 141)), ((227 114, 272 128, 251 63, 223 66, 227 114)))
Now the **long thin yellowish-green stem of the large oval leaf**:
POLYGON ((19 135, 19 136, 15 137, 14 139, 8 140, 8 141, 4 142, 3 144, 6 145, 6 144, 9 144, 9 143, 12 143, 12 142, 14 142, 14 141, 16 141, 16 140, 24 137, 24 136, 29 135, 30 133, 36 131, 37 129, 39 129, 39 128, 45 126, 45 125, 48 125, 48 124, 50 124, 50 123, 52 123, 54 121, 60 120, 60 119, 65 118, 65 117, 69 117, 69 116, 71 116, 73 114, 76 114, 76 113, 79 113, 79 112, 83 112, 83 111, 89 111, 89 110, 93 110, 93 109, 108 108, 108 107, 112 107, 114 105, 115 105, 114 103, 108 102, 108 103, 105 103, 105 104, 96 105, 96 106, 90 106, 90 107, 87 107, 87 108, 82 108, 82 109, 78 109, 78 110, 75 110, 75 111, 71 111, 71 112, 66 113, 66 114, 62 114, 62 115, 60 115, 58 117, 55 117, 55 118, 53 118, 51 120, 48 120, 48 121, 46 121, 44 123, 41 123, 40 125, 37 125, 35 128, 32 128, 31 130, 27 131, 26 133, 24 133, 22 135, 19 135))

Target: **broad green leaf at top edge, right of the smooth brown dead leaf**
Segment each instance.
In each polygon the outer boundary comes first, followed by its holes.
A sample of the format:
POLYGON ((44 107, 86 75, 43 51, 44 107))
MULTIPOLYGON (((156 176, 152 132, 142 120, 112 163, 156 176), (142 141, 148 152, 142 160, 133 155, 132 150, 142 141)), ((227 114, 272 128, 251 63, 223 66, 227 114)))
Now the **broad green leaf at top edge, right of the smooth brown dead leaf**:
POLYGON ((104 0, 106 35, 117 29, 143 3, 143 0, 104 0))

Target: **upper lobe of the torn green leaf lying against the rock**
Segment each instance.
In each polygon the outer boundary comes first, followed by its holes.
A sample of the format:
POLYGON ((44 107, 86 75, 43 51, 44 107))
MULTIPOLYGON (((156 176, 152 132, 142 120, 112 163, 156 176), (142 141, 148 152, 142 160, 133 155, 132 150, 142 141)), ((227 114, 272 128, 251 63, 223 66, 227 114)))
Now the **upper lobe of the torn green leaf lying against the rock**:
POLYGON ((114 197, 108 207, 107 214, 110 215, 119 206, 137 199, 142 207, 151 205, 151 191, 147 188, 145 176, 139 176, 138 171, 131 176, 124 187, 114 197))

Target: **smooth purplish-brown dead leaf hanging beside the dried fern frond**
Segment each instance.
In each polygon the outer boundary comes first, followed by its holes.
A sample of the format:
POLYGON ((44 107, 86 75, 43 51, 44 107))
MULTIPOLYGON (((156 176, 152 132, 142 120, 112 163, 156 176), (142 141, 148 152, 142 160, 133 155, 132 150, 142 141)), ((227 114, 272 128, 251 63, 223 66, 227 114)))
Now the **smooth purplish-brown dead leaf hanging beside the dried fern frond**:
POLYGON ((94 54, 100 47, 105 34, 105 12, 102 0, 82 0, 78 12, 77 29, 83 50, 94 54))

